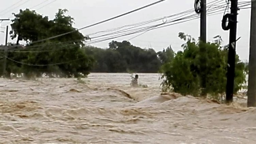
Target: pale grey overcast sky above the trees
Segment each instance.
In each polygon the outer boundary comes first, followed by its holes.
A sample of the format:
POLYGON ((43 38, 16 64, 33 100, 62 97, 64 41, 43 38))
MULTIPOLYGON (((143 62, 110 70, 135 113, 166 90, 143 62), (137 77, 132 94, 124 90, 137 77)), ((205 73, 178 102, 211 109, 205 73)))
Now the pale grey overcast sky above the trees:
MULTIPOLYGON (((107 18, 131 11, 135 8, 153 3, 157 0, 1 0, 0 2, 0 18, 13 18, 12 13, 18 13, 19 9, 32 8, 37 13, 49 16, 53 19, 54 14, 59 8, 66 8, 69 10, 67 13, 71 17, 75 18, 74 26, 81 28, 93 24, 95 22, 105 20, 107 18), (46 1, 43 4, 42 2, 46 1), (47 3, 53 3, 46 5, 47 3), (17 3, 19 2, 19 3, 17 3), (10 7, 11 5, 16 5, 10 7), (23 4, 22 4, 23 3, 23 4), (40 4, 40 5, 38 5, 40 4), (34 7, 35 5, 38 5, 34 7), (5 8, 8 10, 3 11, 5 8), (41 8, 42 7, 42 8, 41 8), (40 8, 39 10, 37 10, 40 8), (3 11, 3 12, 1 12, 3 11)), ((211 2, 213 0, 207 0, 211 2)), ((248 1, 248 0, 239 0, 248 1)), ((223 0, 225 2, 225 0, 223 0)), ((88 29, 81 30, 84 35, 88 33, 94 33, 102 30, 108 30, 117 28, 119 26, 133 24, 141 21, 151 20, 163 16, 172 15, 182 11, 186 11, 193 8, 193 0, 166 0, 154 6, 145 8, 141 11, 123 16, 121 18, 114 19, 112 21, 102 23, 93 26, 88 29)), ((241 36, 241 39, 237 42, 237 53, 242 60, 248 60, 249 57, 249 38, 250 38, 250 9, 244 9, 239 12, 238 15, 238 31, 237 37, 241 36)), ((228 43, 229 32, 224 31, 221 28, 221 20, 223 14, 207 17, 207 39, 212 40, 216 35, 221 35, 225 44, 228 43)), ((9 21, 1 23, 1 27, 10 25, 9 21)), ((5 29, 1 28, 1 31, 5 29)), ((189 22, 168 26, 165 28, 149 31, 137 38, 132 39, 130 42, 141 48, 154 48, 156 51, 161 51, 163 48, 168 47, 170 44, 174 51, 182 50, 180 45, 184 42, 178 38, 179 32, 185 32, 192 35, 194 38, 199 37, 199 19, 189 22)), ((123 41, 130 39, 134 35, 121 37, 113 40, 123 41)), ((0 44, 4 44, 5 34, 0 33, 0 44)), ((11 39, 9 39, 11 41, 11 39)), ((105 42, 95 43, 94 46, 107 48, 108 43, 111 40, 105 42)))

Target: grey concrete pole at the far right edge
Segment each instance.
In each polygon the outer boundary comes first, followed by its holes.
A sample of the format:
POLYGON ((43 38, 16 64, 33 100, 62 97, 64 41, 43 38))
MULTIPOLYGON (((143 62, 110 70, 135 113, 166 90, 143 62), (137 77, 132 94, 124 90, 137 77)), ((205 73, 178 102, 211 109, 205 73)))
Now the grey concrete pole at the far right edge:
POLYGON ((256 107, 256 26, 255 25, 256 25, 256 1, 252 0, 247 107, 256 107))

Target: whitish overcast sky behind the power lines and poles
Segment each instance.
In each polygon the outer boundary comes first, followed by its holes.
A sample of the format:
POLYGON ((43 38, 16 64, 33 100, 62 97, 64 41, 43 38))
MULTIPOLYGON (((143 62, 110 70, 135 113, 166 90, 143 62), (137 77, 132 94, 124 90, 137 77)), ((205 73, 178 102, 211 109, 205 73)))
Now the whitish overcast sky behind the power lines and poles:
MULTIPOLYGON (((84 25, 100 22, 102 19, 111 18, 113 15, 124 14, 130 10, 135 10, 142 5, 154 3, 157 0, 93 0, 86 2, 80 0, 74 0, 72 2, 57 0, 51 4, 48 3, 54 0, 48 0, 47 2, 45 2, 46 0, 26 1, 27 0, 8 0, 1 2, 1 18, 10 17, 12 19, 12 13, 18 13, 19 9, 25 10, 26 8, 33 8, 38 14, 49 16, 49 18, 52 19, 59 8, 67 8, 67 10, 69 10, 67 15, 75 18, 74 27, 83 28, 84 25), (78 2, 79 4, 77 4, 78 2), (20 6, 17 7, 17 5, 20 6), (42 8, 37 10, 40 7, 42 8), (7 11, 10 12, 6 13, 7 11)), ((212 40, 214 36, 221 35, 224 44, 227 44, 229 33, 223 31, 221 28, 221 20, 224 12, 220 11, 219 14, 217 14, 218 8, 225 10, 226 0, 207 0, 207 2, 208 14, 212 13, 209 15, 210 17, 207 17, 207 40, 212 40)), ((243 4, 243 2, 248 3, 250 1, 239 0, 239 2, 240 4, 243 4)), ((178 51, 182 50, 180 45, 184 43, 184 41, 178 38, 179 32, 187 33, 194 38, 199 36, 199 19, 194 15, 193 4, 194 1, 191 0, 165 0, 163 3, 145 8, 142 11, 83 29, 80 32, 84 36, 89 35, 90 38, 95 37, 92 41, 86 41, 86 44, 92 44, 93 46, 100 48, 106 48, 111 40, 123 41, 131 39, 130 42, 133 45, 141 48, 149 47, 150 45, 150 48, 159 51, 171 44, 174 51, 178 51), (176 15, 176 17, 172 15, 176 15), (179 16, 183 19, 178 20, 179 16), (163 24, 163 21, 166 21, 165 24, 163 24)), ((228 11, 230 11, 230 5, 229 8, 227 8, 226 13, 228 11)), ((4 31, 5 25, 10 25, 10 22, 4 21, 1 24, 3 27, 1 31, 4 31)), ((249 28, 250 5, 240 6, 237 37, 241 36, 241 39, 237 42, 237 53, 242 59, 248 59, 249 55, 249 28)), ((0 33, 0 43, 4 43, 4 39, 5 34, 0 33)), ((9 41, 14 42, 15 39, 9 39, 9 41)), ((66 44, 70 43, 67 42, 66 44)), ((39 51, 38 48, 35 47, 35 49, 31 51, 39 51)))

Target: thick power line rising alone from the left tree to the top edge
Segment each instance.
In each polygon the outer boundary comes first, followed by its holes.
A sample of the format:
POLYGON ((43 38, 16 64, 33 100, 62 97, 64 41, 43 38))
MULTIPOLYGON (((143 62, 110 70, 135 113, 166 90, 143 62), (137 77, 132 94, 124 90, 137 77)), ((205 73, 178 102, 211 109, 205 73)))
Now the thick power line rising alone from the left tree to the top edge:
POLYGON ((60 35, 57 35, 57 36, 53 36, 53 37, 49 37, 49 38, 46 38, 46 39, 38 40, 38 41, 35 41, 35 42, 33 42, 33 43, 41 42, 41 41, 45 41, 45 40, 49 40, 49 39, 53 39, 53 38, 57 38, 57 37, 60 37, 60 36, 63 36, 63 35, 69 34, 69 33, 73 33, 73 32, 79 31, 79 30, 83 30, 83 29, 86 29, 86 28, 90 28, 90 27, 92 27, 92 26, 94 26, 94 25, 98 25, 98 24, 100 24, 100 23, 104 23, 104 22, 107 22, 107 21, 110 21, 110 20, 113 20, 113 19, 116 19, 116 18, 125 16, 125 15, 128 15, 128 14, 130 14, 130 13, 133 13, 133 12, 136 12, 136 11, 139 11, 139 10, 142 10, 142 9, 144 9, 144 8, 146 8, 146 7, 155 5, 155 4, 160 3, 160 2, 163 2, 163 1, 165 1, 165 0, 159 0, 159 1, 157 1, 157 2, 154 2, 154 3, 148 4, 148 5, 146 5, 146 6, 143 6, 143 7, 137 8, 137 9, 135 9, 135 10, 132 10, 132 11, 130 11, 130 12, 127 12, 127 13, 124 13, 124 14, 121 14, 121 15, 118 15, 118 16, 115 16, 115 17, 112 17, 112 18, 109 18, 109 19, 107 19, 107 20, 103 20, 103 21, 94 23, 94 24, 91 24, 91 25, 88 25, 88 26, 85 26, 85 27, 80 28, 80 29, 78 29, 78 30, 71 31, 71 32, 67 32, 67 33, 63 33, 63 34, 60 34, 60 35))

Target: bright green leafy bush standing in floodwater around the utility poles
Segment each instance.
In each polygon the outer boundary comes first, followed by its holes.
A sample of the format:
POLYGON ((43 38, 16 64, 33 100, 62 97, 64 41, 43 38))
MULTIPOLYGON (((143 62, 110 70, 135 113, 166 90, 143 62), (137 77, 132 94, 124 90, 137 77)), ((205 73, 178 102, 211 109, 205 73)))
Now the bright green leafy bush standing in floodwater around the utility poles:
MULTIPOLYGON (((173 89, 181 94, 198 96, 202 88, 200 85, 200 55, 199 43, 189 35, 179 33, 179 37, 186 41, 182 45, 183 51, 178 51, 171 61, 166 62, 162 68, 163 90, 173 89)), ((222 47, 220 36, 214 42, 208 42, 206 47, 206 92, 218 95, 225 92, 227 72, 227 49, 222 47)), ((236 55, 235 89, 236 93, 246 81, 246 67, 236 55)))

